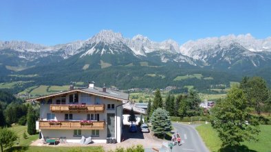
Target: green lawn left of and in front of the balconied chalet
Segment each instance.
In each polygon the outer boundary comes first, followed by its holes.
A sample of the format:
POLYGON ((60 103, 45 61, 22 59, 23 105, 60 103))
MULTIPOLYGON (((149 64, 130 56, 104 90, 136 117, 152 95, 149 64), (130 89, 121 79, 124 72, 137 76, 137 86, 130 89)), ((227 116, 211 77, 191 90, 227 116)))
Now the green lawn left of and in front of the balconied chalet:
POLYGON ((102 152, 102 147, 34 147, 29 146, 33 141, 39 138, 39 134, 29 136, 27 134, 27 126, 14 125, 10 127, 10 130, 14 131, 19 140, 15 141, 14 147, 11 149, 6 149, 6 151, 93 151, 102 152), (23 138, 23 132, 26 132, 28 138, 23 138))

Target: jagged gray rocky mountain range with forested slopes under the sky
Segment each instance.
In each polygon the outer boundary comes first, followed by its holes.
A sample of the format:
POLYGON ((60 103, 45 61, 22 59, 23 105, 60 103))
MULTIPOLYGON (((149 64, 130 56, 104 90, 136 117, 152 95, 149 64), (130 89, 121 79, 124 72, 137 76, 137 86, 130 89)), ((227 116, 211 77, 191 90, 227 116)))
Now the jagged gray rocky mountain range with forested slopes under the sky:
MULTIPOLYGON (((156 73, 161 75, 166 75, 162 72, 165 69, 177 68, 177 71, 223 71, 230 75, 263 74, 267 77, 271 73, 260 71, 269 69, 270 65, 271 37, 259 40, 250 34, 190 40, 182 45, 174 40, 154 42, 142 35, 124 38, 121 33, 111 30, 102 30, 87 40, 54 46, 0 41, 0 75, 4 77, 0 81, 5 81, 12 73, 52 75, 72 68, 84 75, 87 71, 105 73, 105 68, 118 73, 120 68, 131 70, 135 66, 140 67, 138 71, 156 68, 156 73)), ((177 71, 174 75, 182 73, 177 71)), ((91 77, 88 79, 94 79, 91 77)))

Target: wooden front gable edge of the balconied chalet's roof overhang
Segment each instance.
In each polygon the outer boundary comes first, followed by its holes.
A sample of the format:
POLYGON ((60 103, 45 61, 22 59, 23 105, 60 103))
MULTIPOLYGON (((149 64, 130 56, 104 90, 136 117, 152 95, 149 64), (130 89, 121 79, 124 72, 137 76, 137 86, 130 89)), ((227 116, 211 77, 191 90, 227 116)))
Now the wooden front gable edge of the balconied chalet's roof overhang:
POLYGON ((87 94, 91 94, 91 95, 96 95, 96 96, 99 96, 99 97, 105 97, 105 98, 109 98, 109 99, 115 99, 117 101, 128 101, 127 99, 121 99, 121 98, 116 98, 116 97, 110 97, 110 96, 106 96, 106 95, 103 95, 103 94, 98 94, 98 93, 94 93, 94 92, 87 92, 87 91, 84 91, 84 90, 69 90, 69 91, 65 91, 65 92, 59 92, 59 93, 55 93, 55 94, 49 94, 49 95, 46 95, 46 96, 43 96, 43 97, 36 97, 36 98, 32 98, 32 99, 26 99, 25 101, 41 101, 41 99, 46 99, 46 98, 50 98, 50 97, 56 97, 56 96, 61 96, 63 94, 69 94, 69 93, 74 93, 74 92, 83 92, 83 93, 87 93, 87 94))

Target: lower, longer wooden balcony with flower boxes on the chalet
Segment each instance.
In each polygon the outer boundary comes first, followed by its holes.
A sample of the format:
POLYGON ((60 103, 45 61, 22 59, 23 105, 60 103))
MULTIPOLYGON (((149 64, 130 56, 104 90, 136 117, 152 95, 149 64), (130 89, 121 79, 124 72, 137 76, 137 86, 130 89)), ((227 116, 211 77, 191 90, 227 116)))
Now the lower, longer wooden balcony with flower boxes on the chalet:
POLYGON ((39 129, 105 129, 105 121, 39 121, 39 129))

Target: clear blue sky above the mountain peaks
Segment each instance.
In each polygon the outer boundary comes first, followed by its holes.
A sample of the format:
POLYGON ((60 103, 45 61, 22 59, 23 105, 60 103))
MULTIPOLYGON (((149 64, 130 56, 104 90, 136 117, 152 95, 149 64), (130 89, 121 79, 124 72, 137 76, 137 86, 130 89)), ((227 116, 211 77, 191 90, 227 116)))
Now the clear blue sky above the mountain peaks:
POLYGON ((56 45, 85 40, 101 29, 151 40, 187 40, 228 34, 271 36, 271 1, 254 0, 1 0, 0 40, 56 45))

